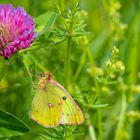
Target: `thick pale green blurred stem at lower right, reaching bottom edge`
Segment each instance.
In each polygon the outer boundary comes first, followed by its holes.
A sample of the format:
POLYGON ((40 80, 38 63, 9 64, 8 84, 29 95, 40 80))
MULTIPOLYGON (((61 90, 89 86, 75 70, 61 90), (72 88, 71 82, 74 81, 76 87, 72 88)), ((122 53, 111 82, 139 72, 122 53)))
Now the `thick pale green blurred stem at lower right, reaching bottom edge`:
POLYGON ((126 108, 127 108, 127 98, 126 94, 122 93, 122 105, 121 105, 121 112, 119 116, 119 122, 115 134, 114 140, 122 140, 123 139, 123 129, 124 129, 124 122, 125 122, 125 113, 126 113, 126 108))

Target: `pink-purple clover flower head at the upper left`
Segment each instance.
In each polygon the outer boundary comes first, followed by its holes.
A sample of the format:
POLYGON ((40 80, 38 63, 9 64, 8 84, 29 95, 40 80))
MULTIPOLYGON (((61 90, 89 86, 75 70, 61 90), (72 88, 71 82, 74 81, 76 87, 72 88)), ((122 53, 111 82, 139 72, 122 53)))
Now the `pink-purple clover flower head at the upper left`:
POLYGON ((28 48, 37 36, 34 29, 33 18, 22 7, 0 4, 0 55, 9 59, 28 48))

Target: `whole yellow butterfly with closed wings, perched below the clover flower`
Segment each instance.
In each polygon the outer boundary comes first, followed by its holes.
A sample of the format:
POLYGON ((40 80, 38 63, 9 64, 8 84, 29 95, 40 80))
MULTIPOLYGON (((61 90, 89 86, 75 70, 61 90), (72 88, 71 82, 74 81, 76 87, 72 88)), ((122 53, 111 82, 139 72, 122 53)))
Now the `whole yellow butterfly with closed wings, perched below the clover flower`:
POLYGON ((39 80, 32 100, 31 118, 47 128, 84 122, 80 107, 67 90, 52 79, 50 73, 45 73, 39 80))

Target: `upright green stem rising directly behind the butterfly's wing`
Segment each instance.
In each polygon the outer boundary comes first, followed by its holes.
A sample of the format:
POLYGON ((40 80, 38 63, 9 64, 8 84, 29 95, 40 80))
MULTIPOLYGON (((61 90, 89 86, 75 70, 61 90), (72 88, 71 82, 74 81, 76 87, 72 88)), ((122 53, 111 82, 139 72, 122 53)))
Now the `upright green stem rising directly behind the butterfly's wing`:
POLYGON ((68 36, 67 51, 65 58, 65 88, 69 91, 70 83, 70 56, 71 56, 71 36, 68 36))

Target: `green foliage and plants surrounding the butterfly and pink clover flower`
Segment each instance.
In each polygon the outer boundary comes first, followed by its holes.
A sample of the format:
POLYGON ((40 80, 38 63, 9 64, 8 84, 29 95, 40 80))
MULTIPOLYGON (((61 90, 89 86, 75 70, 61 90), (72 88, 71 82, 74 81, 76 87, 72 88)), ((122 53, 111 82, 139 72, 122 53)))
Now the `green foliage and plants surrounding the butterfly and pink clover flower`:
POLYGON ((0 119, 0 139, 140 139, 139 0, 81 0, 75 19, 71 15, 75 16, 77 0, 1 0, 0 3, 20 5, 35 20, 43 13, 55 12, 50 15, 52 19, 49 14, 46 16, 49 21, 36 20, 46 28, 30 49, 9 61, 0 57, 0 108, 30 127, 21 136, 12 133, 9 137, 7 133, 11 132, 3 130, 0 119), (66 70, 69 39, 71 65, 66 70), (47 129, 30 119, 38 73, 45 71, 53 73, 66 88, 68 82, 68 90, 85 116, 82 125, 47 129))

